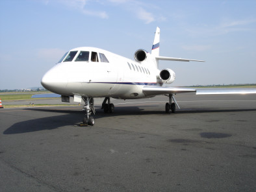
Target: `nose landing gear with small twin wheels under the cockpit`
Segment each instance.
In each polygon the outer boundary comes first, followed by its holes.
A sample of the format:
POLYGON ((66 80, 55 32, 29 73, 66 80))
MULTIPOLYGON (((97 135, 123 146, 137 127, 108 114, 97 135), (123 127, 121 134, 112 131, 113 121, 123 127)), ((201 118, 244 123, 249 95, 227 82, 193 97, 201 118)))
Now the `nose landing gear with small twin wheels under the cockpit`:
POLYGON ((84 101, 83 111, 85 112, 85 117, 83 119, 84 124, 93 126, 95 123, 94 117, 90 117, 91 114, 95 115, 94 108, 94 98, 92 97, 82 97, 84 101))

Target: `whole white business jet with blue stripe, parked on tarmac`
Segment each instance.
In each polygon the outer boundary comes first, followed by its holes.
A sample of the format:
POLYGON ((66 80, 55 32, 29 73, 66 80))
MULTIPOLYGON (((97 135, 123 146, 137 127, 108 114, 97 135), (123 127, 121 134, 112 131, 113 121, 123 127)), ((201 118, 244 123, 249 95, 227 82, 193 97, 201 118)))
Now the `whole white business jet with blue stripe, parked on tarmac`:
POLYGON ((94 125, 94 98, 105 97, 102 109, 114 112, 115 99, 141 99, 155 95, 168 95, 165 111, 175 113, 176 106, 173 94, 196 92, 199 94, 245 94, 256 93, 250 89, 194 89, 166 86, 175 80, 172 69, 159 70, 159 60, 181 62, 203 62, 183 58, 159 56, 160 29, 157 27, 151 53, 139 49, 130 60, 118 54, 110 53, 95 47, 78 47, 71 49, 60 59, 58 64, 45 73, 42 86, 61 95, 63 102, 84 101, 85 117, 83 123, 94 125), (172 102, 173 100, 173 102, 172 102))

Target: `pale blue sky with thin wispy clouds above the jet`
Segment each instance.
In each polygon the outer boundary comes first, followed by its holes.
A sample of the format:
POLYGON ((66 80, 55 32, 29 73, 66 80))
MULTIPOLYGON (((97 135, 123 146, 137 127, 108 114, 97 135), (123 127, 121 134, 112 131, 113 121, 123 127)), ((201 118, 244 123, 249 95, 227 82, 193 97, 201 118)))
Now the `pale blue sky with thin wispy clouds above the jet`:
POLYGON ((151 50, 156 27, 161 56, 206 61, 161 61, 176 73, 173 86, 256 83, 255 8, 255 0, 1 0, 0 90, 41 86, 75 47, 133 58, 151 50))

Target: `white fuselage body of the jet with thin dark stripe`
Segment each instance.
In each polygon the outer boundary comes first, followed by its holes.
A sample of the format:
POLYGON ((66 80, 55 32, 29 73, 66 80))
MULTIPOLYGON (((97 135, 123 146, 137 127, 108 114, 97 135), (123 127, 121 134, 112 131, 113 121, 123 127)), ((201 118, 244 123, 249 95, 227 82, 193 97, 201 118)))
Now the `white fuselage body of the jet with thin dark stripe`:
POLYGON ((159 69, 151 58, 136 62, 94 47, 79 47, 71 51, 77 51, 73 60, 65 62, 64 58, 45 73, 42 78, 44 88, 66 96, 139 99, 148 97, 142 92, 144 86, 161 84, 159 69), (88 61, 75 61, 81 51, 90 53, 88 61), (97 53, 97 61, 92 61, 92 52, 97 53), (108 62, 101 62, 100 53, 108 62))

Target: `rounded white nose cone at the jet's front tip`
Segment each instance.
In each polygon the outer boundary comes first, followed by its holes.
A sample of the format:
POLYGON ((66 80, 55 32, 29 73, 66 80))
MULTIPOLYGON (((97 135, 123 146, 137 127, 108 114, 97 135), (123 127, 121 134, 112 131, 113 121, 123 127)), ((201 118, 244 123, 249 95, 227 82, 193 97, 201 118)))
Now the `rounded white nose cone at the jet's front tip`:
POLYGON ((68 77, 64 71, 56 68, 50 69, 45 73, 41 80, 42 86, 53 93, 65 94, 68 84, 68 77))

